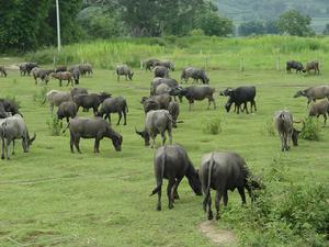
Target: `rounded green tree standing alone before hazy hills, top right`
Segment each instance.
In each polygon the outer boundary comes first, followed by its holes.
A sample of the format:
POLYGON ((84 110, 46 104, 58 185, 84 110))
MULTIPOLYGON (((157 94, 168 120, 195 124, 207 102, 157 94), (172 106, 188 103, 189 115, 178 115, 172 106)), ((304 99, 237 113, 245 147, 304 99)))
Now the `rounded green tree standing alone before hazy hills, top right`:
POLYGON ((314 31, 310 29, 310 16, 303 15, 296 10, 290 10, 280 15, 277 29, 280 33, 287 33, 295 36, 310 36, 314 31))

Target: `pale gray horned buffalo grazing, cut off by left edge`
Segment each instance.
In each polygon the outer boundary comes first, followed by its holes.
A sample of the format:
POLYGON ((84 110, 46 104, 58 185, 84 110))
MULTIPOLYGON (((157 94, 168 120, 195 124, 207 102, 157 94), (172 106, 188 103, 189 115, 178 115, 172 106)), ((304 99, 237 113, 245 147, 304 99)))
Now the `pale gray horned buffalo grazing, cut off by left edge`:
POLYGON ((14 142, 15 139, 22 139, 22 146, 24 153, 30 150, 30 146, 34 142, 36 135, 30 138, 29 131, 23 117, 20 114, 15 114, 13 116, 9 116, 3 120, 1 124, 1 139, 2 139, 2 155, 1 158, 4 159, 4 149, 5 149, 5 157, 10 159, 9 156, 9 146, 11 142, 13 142, 13 150, 12 154, 14 155, 14 142))

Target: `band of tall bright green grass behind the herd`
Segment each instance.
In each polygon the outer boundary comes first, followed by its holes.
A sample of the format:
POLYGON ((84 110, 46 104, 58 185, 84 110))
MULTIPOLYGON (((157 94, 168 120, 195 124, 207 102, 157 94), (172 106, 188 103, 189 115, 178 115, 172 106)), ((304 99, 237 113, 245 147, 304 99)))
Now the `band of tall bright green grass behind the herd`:
POLYGON ((328 37, 253 36, 224 38, 216 36, 164 36, 157 38, 114 38, 64 46, 59 56, 47 48, 26 55, 39 64, 91 63, 97 68, 112 69, 126 63, 139 67, 140 59, 171 59, 175 67, 197 66, 206 69, 284 69, 290 59, 319 60, 328 64, 328 37), (257 55, 257 56, 256 56, 257 55))

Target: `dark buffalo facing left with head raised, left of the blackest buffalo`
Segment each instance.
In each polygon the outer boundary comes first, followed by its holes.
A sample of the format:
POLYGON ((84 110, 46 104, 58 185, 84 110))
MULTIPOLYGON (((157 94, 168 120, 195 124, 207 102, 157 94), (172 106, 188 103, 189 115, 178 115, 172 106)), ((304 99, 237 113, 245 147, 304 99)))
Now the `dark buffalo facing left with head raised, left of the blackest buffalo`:
POLYGON ((208 109, 211 106, 211 102, 214 104, 214 109, 216 109, 216 102, 214 99, 215 89, 211 88, 207 85, 203 86, 190 86, 188 88, 174 88, 170 91, 170 96, 181 96, 185 97, 189 101, 189 110, 191 111, 191 105, 194 104, 194 101, 201 101, 204 99, 208 99, 208 109))

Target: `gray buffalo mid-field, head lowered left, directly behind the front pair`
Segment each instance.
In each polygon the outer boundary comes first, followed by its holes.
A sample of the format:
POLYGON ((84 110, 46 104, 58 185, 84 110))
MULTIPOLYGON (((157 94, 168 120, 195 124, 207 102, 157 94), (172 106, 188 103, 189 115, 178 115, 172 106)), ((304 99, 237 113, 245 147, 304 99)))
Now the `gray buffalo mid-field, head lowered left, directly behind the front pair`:
POLYGON ((162 145, 166 143, 166 132, 169 135, 169 143, 172 143, 172 122, 173 119, 167 110, 151 110, 146 113, 145 128, 141 132, 136 130, 136 134, 140 135, 145 141, 145 146, 149 146, 149 139, 151 138, 151 148, 155 146, 156 137, 161 134, 162 145))

